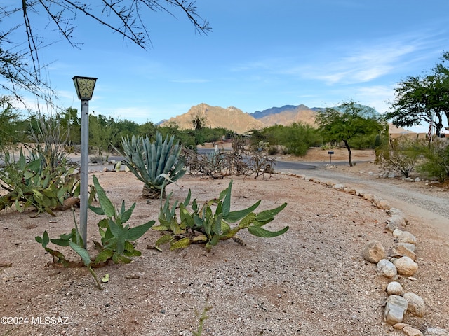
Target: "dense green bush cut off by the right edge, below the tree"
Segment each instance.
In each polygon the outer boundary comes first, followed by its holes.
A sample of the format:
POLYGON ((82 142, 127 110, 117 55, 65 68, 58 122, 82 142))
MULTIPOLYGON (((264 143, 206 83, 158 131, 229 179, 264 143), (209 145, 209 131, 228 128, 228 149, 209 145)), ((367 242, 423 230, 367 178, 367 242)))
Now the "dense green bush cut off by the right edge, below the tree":
POLYGON ((417 171, 438 181, 449 178, 449 144, 437 140, 424 151, 424 162, 417 166, 417 171))

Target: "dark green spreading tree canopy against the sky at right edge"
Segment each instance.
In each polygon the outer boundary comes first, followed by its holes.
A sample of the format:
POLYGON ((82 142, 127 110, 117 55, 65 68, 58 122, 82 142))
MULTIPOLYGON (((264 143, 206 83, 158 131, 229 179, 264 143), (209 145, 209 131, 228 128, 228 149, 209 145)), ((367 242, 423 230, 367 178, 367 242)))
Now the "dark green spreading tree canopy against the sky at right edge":
POLYGON ((449 69, 444 62, 449 61, 449 52, 427 76, 410 76, 398 83, 391 111, 385 114, 387 120, 399 127, 432 123, 436 134, 449 124, 449 69), (444 120, 445 119, 445 120, 444 120))

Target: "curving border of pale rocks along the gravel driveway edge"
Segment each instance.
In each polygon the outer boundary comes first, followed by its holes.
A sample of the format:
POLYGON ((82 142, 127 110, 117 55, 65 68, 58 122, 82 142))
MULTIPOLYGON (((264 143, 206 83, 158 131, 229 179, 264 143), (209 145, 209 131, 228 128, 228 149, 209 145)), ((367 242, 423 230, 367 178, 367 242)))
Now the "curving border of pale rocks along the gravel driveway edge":
POLYGON ((442 328, 427 328, 422 333, 412 325, 403 323, 405 314, 412 314, 417 317, 424 316, 426 304, 419 295, 412 292, 404 292, 403 286, 397 281, 400 277, 417 281, 413 275, 419 268, 416 262, 417 238, 405 230, 409 221, 403 216, 401 210, 391 207, 387 200, 370 193, 362 193, 356 190, 356 188, 344 186, 342 183, 324 182, 314 177, 289 172, 278 172, 277 174, 297 177, 304 181, 321 183, 335 190, 363 197, 364 200, 372 202, 375 207, 389 214, 390 217, 387 220, 385 229, 391 232, 395 243, 394 248, 387 255, 380 242, 369 241, 364 246, 363 251, 361 251, 361 256, 364 260, 375 264, 378 276, 384 276, 391 280, 387 286, 384 286, 385 288, 382 288, 388 295, 387 300, 383 304, 384 322, 393 325, 393 328, 401 330, 407 336, 449 336, 449 331, 442 328))

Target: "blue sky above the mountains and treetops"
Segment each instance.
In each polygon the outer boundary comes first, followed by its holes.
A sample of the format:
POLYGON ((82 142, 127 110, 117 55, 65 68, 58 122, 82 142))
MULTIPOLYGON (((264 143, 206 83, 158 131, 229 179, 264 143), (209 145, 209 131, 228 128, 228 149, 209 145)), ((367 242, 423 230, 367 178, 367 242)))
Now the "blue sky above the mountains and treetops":
POLYGON ((93 76, 91 111, 136 123, 157 123, 200 103, 253 113, 354 99, 382 113, 398 82, 429 71, 449 51, 446 0, 197 0, 196 6, 213 29, 208 36, 196 34, 182 13, 152 13, 147 51, 79 15, 79 49, 60 41, 41 52, 60 104, 80 109, 72 77, 93 76))

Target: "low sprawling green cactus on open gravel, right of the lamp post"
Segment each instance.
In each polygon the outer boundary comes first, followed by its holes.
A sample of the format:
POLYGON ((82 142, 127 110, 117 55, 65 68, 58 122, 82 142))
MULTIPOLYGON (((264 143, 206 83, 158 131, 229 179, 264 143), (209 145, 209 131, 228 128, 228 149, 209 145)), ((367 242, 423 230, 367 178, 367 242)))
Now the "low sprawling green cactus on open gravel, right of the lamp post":
POLYGON ((177 202, 170 207, 170 196, 172 195, 170 193, 166 202, 161 205, 159 225, 153 226, 154 230, 168 233, 156 241, 155 248, 161 251, 161 245, 169 243, 170 251, 173 251, 177 248, 186 248, 190 244, 203 243, 210 251, 221 240, 240 241, 235 235, 242 229, 248 229, 250 234, 264 238, 277 237, 287 232, 288 226, 279 231, 262 228, 265 224, 273 221, 274 216, 279 214, 287 206, 287 203, 259 214, 255 214, 253 211, 259 207, 260 200, 246 209, 231 211, 231 191, 232 180, 229 182, 228 188, 220 193, 220 197, 204 202, 203 206, 199 207, 196 200, 190 204, 191 192, 189 190, 185 201, 179 204, 179 221, 176 214, 177 202), (213 206, 215 211, 213 211, 213 206), (187 207, 192 211, 189 211, 187 207), (239 222, 238 225, 234 227, 230 225, 230 223, 237 222, 239 222))

